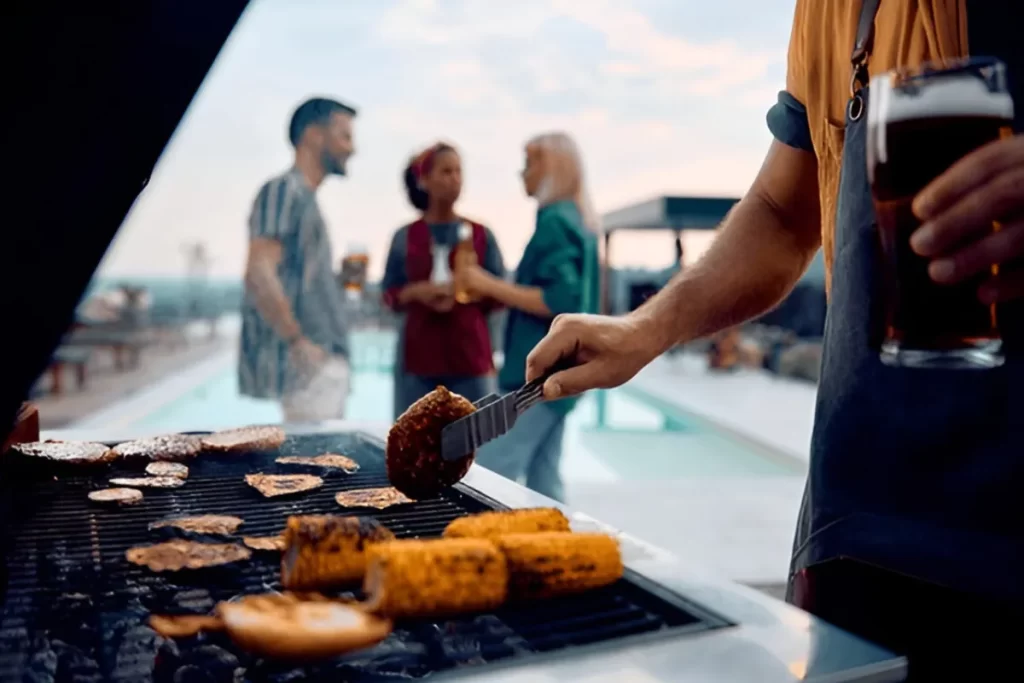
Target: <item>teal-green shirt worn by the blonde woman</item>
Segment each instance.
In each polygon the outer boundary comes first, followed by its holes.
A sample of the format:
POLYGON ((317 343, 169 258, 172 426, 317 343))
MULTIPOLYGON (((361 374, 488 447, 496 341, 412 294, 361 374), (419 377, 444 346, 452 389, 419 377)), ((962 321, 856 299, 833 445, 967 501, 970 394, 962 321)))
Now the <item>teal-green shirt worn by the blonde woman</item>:
MULTIPOLYGON (((537 212, 537 228, 516 268, 515 282, 540 287, 544 302, 555 315, 597 312, 600 276, 597 238, 583 223, 575 202, 549 204, 537 212)), ((503 390, 516 389, 526 380, 526 356, 551 327, 552 318, 510 310, 505 325, 505 365, 498 374, 503 390)), ((568 413, 575 398, 553 403, 568 413)))

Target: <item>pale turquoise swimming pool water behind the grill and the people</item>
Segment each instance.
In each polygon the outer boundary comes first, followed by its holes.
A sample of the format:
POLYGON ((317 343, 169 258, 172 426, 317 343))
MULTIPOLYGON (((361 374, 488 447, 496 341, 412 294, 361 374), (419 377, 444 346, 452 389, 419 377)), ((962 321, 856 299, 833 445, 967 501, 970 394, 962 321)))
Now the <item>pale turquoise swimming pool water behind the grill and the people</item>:
MULTIPOLYGON (((346 419, 391 420, 393 336, 353 338, 352 393, 346 419)), ((273 401, 239 393, 233 358, 202 381, 132 421, 146 430, 218 429, 275 423, 273 401)), ((622 481, 714 476, 792 476, 803 464, 657 401, 632 386, 585 396, 566 423, 563 474, 568 480, 622 481)))

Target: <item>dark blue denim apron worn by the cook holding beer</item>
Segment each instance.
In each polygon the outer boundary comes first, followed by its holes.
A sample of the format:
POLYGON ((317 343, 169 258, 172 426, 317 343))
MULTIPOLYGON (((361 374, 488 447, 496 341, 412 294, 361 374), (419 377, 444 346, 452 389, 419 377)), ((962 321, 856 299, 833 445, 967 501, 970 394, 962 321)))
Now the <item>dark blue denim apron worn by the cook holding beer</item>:
POLYGON ((1007 360, 995 370, 890 368, 879 358, 885 292, 866 165, 866 63, 878 4, 864 0, 852 59, 831 299, 790 596, 803 569, 846 558, 974 594, 1019 599, 1019 316, 1010 321, 999 311, 1007 360))

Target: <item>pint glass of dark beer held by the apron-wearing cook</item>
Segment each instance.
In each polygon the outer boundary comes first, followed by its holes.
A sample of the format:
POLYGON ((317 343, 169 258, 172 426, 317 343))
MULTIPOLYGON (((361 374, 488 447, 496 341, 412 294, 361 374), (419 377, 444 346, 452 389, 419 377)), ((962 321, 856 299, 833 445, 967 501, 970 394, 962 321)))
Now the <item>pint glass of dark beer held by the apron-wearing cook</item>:
MULTIPOLYGON (((930 259, 910 248, 921 226, 918 193, 970 152, 1013 134, 1006 66, 979 57, 889 72, 871 79, 867 176, 878 216, 885 279, 882 361, 906 368, 987 369, 1002 365, 996 306, 970 282, 940 285, 930 259)), ((998 229, 993 225, 992 229, 998 229)))

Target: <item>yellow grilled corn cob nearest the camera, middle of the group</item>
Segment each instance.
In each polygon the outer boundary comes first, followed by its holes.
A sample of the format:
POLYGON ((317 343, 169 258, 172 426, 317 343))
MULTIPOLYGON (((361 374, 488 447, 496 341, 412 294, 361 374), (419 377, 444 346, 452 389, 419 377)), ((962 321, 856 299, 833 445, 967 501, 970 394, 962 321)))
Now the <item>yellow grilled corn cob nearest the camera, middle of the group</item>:
POLYGON ((437 617, 505 602, 505 558, 484 539, 391 541, 367 551, 367 608, 388 618, 437 617))

